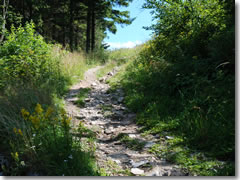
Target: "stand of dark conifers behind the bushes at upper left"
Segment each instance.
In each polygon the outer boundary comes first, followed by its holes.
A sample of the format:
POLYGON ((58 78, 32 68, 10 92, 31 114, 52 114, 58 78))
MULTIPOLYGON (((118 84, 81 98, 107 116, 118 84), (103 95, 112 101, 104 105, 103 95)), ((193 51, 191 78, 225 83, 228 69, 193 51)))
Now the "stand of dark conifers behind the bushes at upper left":
MULTIPOLYGON (((130 2, 132 0, 11 0, 7 18, 1 13, 1 29, 33 21, 48 41, 69 46, 72 51, 94 51, 101 47, 107 30, 115 33, 117 23, 131 24, 129 12, 116 9, 127 7, 130 2)), ((4 10, 4 4, 1 6, 4 10)))

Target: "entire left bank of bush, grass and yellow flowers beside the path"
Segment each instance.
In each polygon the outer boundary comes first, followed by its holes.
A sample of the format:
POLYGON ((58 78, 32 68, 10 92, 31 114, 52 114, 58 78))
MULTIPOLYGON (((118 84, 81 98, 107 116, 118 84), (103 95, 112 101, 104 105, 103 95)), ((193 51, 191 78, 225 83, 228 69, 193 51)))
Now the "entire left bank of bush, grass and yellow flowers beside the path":
POLYGON ((0 56, 0 152, 9 162, 0 171, 99 175, 93 146, 86 151, 80 141, 84 127, 72 129, 60 99, 73 77, 79 80, 91 67, 84 56, 47 44, 33 23, 12 26, 0 56))

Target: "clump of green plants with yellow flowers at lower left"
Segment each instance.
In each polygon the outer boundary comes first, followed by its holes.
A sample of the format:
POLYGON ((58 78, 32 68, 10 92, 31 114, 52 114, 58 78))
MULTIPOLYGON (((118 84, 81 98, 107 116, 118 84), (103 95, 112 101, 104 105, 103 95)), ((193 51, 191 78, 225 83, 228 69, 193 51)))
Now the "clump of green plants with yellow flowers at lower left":
POLYGON ((4 168, 5 175, 98 175, 93 152, 84 152, 80 139, 73 138, 71 118, 63 109, 59 113, 37 104, 33 113, 22 109, 21 114, 24 126, 9 132, 14 163, 4 168))

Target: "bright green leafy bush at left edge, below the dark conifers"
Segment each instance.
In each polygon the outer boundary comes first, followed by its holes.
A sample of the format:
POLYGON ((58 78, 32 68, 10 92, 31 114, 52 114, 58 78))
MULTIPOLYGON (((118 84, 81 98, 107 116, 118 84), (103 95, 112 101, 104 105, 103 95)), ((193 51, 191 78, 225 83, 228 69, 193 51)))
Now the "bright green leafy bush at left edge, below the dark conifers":
POLYGON ((1 91, 30 86, 62 93, 69 80, 62 75, 58 59, 51 56, 52 46, 35 32, 33 23, 12 26, 6 38, 0 47, 1 91))

